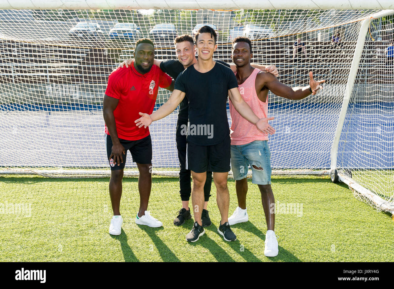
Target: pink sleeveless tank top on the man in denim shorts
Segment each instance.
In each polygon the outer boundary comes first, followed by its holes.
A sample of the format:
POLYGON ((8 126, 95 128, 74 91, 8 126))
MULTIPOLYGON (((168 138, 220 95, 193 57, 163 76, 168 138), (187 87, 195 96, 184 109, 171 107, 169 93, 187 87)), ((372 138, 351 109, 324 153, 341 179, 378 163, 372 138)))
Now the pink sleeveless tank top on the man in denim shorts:
MULTIPOLYGON (((268 115, 268 96, 266 102, 262 102, 257 97, 255 81, 258 72, 260 70, 255 68, 245 82, 238 86, 238 90, 256 116, 258 118, 266 118, 268 115)), ((249 144, 255 140, 268 140, 268 134, 260 133, 256 125, 245 120, 234 108, 231 101, 229 101, 229 105, 231 115, 230 138, 232 145, 249 144)))

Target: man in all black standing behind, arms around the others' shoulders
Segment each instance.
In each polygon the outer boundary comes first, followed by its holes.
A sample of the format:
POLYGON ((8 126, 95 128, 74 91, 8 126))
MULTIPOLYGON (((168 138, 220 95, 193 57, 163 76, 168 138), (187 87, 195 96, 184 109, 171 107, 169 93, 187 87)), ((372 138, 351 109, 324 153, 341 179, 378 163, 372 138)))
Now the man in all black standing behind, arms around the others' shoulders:
MULTIPOLYGON (((193 37, 190 35, 178 36, 175 41, 175 51, 178 59, 167 59, 167 60, 154 60, 154 65, 160 66, 160 69, 170 75, 174 80, 177 79, 178 75, 181 74, 186 68, 197 63, 195 57, 195 45, 193 37)), ((131 65, 132 60, 123 61, 120 66, 131 65)), ((226 65, 236 71, 235 64, 227 64, 224 61, 216 60, 217 63, 226 65)), ((260 64, 252 64, 255 68, 260 70, 266 70, 271 74, 278 75, 278 71, 275 66, 264 66, 260 64)), ((176 142, 178 150, 178 158, 180 162, 179 171, 179 185, 180 185, 180 198, 182 200, 182 208, 178 211, 177 217, 174 219, 174 225, 180 226, 184 224, 185 220, 191 219, 189 199, 191 194, 190 186, 190 169, 186 169, 186 134, 182 134, 182 127, 187 127, 189 113, 188 113, 188 99, 187 97, 182 100, 179 104, 178 110, 178 121, 176 131, 176 142)), ((203 226, 211 225, 210 217, 208 214, 208 200, 210 197, 212 184, 212 171, 206 172, 206 181, 204 184, 204 208, 201 215, 203 226)))

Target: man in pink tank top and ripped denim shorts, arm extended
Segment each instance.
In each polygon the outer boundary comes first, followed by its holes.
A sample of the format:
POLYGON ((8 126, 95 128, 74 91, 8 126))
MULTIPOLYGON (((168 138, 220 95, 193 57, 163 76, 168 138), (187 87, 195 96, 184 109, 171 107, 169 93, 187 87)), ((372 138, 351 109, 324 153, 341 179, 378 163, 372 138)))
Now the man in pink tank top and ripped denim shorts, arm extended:
MULTIPOLYGON (((269 73, 263 72, 250 65, 252 44, 246 37, 237 37, 232 42, 232 61, 237 66, 236 78, 238 89, 245 102, 251 107, 258 118, 268 117, 268 91, 287 99, 303 99, 314 95, 323 88, 321 81, 314 81, 309 72, 309 86, 288 87, 269 73)), ((230 101, 231 114, 231 169, 235 179, 238 207, 231 217, 229 224, 248 221, 246 211, 247 171, 252 168, 252 183, 257 184, 261 192, 261 200, 266 215, 267 233, 264 255, 275 257, 278 254, 278 242, 275 229, 275 199, 271 189, 271 164, 268 147, 268 134, 262 133, 256 126, 245 120, 230 101)), ((273 120, 272 118, 268 118, 273 120)))

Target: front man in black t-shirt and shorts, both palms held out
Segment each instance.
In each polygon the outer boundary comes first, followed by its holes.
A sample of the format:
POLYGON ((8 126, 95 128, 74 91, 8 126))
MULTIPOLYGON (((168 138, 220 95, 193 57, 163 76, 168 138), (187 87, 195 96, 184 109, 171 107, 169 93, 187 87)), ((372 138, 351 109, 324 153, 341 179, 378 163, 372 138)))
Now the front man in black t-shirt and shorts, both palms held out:
POLYGON ((241 116, 254 123, 260 131, 273 134, 275 130, 268 124, 268 118, 258 119, 243 100, 234 73, 212 60, 217 49, 216 32, 209 26, 203 26, 196 34, 196 45, 199 61, 178 76, 174 92, 160 109, 151 115, 140 112, 141 118, 136 120, 136 125, 147 127, 152 121, 164 118, 177 108, 186 95, 189 101, 189 122, 187 127, 181 129, 183 134, 187 134, 186 169, 190 169, 193 176, 191 197, 195 220, 186 240, 197 241, 205 233, 201 208, 204 206, 206 171, 211 170, 214 172, 217 205, 221 214, 218 232, 226 241, 234 241, 236 236, 228 223, 230 131, 227 96, 241 116))

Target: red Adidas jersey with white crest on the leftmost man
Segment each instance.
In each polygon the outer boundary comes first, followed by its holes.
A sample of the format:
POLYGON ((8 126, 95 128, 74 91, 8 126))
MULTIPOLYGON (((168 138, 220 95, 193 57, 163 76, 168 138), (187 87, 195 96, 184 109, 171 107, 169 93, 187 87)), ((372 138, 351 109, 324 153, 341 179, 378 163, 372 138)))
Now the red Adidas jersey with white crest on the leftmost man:
MULTIPOLYGON (((110 74, 105 94, 119 99, 113 111, 119 138, 140 140, 149 135, 149 127, 138 128, 134 121, 141 117, 138 112, 153 112, 159 87, 169 87, 171 81, 171 77, 156 65, 152 65, 148 73, 140 74, 134 68, 134 61, 128 68, 123 66, 110 74)), ((109 134, 107 126, 105 133, 109 134)))

